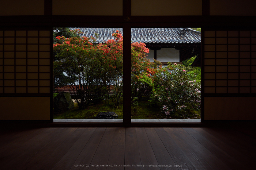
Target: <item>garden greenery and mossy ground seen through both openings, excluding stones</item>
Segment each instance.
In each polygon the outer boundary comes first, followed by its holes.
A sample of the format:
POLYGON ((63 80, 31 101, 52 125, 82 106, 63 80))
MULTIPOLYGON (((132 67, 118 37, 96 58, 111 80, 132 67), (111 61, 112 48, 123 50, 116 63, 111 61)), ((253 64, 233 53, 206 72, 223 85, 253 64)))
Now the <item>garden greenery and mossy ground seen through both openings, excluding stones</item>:
MULTIPOLYGON (((54 39, 54 90, 69 86, 74 108, 54 119, 95 119, 111 111, 123 119, 123 36, 97 43, 80 31, 54 39)), ((96 35, 97 36, 97 35, 96 35)), ((131 119, 200 119, 200 67, 150 62, 144 43, 131 43, 131 119)))

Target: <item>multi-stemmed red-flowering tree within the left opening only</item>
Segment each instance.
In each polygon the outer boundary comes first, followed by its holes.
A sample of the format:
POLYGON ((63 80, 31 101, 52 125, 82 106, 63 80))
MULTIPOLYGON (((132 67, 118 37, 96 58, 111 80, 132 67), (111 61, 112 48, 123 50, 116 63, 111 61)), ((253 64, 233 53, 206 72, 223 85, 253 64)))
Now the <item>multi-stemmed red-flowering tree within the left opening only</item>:
MULTIPOLYGON (((113 55, 110 43, 96 44, 94 38, 57 37, 63 43, 54 44, 58 65, 65 68, 68 85, 75 94, 80 109, 103 100, 110 86, 122 73, 121 54, 113 55)), ((55 64, 54 62, 54 64, 55 64)))

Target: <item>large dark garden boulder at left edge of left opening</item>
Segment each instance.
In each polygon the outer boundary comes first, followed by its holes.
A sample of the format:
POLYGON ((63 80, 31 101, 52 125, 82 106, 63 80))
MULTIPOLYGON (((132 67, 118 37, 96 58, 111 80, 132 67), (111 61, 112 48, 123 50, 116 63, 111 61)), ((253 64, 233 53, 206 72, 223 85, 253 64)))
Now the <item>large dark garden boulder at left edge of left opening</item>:
POLYGON ((74 108, 70 93, 60 93, 53 99, 54 112, 68 111, 74 108))

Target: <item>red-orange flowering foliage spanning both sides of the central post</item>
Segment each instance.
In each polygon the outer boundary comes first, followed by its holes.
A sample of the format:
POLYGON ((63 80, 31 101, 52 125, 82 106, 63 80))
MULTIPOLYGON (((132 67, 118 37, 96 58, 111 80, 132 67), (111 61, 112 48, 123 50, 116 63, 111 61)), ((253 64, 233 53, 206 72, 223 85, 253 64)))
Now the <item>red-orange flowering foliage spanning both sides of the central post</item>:
MULTIPOLYGON (((65 68, 80 109, 110 97, 115 107, 119 104, 123 93, 123 36, 118 30, 112 36, 114 39, 98 44, 94 38, 57 37, 62 43, 54 44, 60 59, 54 64, 65 68)), ((132 101, 152 88, 157 62, 151 63, 146 53, 149 50, 144 43, 131 44, 132 101)))

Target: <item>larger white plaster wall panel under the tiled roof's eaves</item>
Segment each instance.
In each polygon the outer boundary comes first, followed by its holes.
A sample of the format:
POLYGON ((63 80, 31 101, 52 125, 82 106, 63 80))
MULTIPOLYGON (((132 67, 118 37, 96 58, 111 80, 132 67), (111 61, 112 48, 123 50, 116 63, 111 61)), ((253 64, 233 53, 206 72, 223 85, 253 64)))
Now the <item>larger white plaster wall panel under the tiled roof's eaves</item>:
POLYGON ((157 60, 160 62, 180 62, 180 50, 174 48, 157 50, 157 60))

